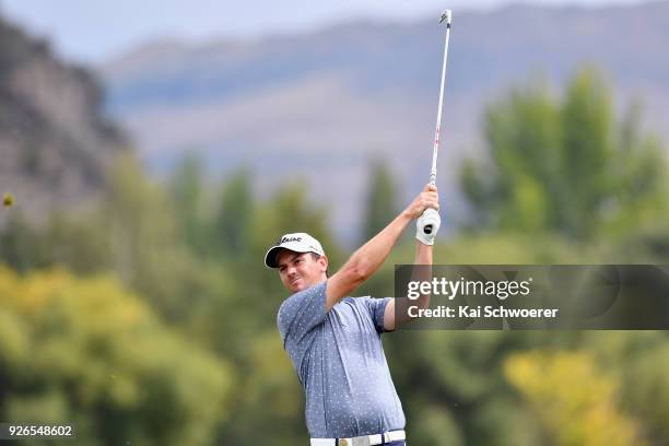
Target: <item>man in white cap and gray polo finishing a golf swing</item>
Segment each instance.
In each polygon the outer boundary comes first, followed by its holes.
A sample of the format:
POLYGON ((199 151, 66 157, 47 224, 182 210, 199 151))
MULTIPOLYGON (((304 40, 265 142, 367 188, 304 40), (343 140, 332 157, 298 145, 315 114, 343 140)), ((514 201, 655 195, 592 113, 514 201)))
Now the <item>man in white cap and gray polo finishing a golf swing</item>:
MULTIPOLYGON (((404 445, 404 413, 390 377, 380 333, 410 318, 396 318, 395 298, 349 297, 384 262, 407 225, 416 222, 414 263, 432 265, 439 227, 437 189, 425 189, 392 222, 357 249, 328 279, 320 243, 305 233, 286 234, 265 256, 292 293, 277 317, 306 397, 312 446, 404 445), (425 223, 433 231, 421 231, 425 223), (399 319, 399 320, 398 320, 399 319)), ((426 307, 430 296, 418 304, 426 307)))

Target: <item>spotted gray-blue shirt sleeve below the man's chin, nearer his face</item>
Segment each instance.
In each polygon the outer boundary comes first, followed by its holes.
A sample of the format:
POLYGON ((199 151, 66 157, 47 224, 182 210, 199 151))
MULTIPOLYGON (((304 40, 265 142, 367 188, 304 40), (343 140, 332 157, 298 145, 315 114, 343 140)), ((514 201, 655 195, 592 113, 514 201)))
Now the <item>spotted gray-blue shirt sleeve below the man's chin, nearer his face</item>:
POLYGON ((326 283, 300 291, 281 304, 277 325, 284 348, 290 339, 302 339, 326 319, 326 283))

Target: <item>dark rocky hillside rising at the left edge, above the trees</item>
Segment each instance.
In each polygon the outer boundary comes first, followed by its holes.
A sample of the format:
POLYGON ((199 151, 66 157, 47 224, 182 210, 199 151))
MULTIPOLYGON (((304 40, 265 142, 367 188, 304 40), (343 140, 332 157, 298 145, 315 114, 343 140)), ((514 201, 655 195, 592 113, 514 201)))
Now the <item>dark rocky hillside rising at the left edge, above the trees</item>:
POLYGON ((94 74, 0 17, 0 192, 15 197, 13 210, 38 223, 52 209, 81 207, 125 146, 94 74))

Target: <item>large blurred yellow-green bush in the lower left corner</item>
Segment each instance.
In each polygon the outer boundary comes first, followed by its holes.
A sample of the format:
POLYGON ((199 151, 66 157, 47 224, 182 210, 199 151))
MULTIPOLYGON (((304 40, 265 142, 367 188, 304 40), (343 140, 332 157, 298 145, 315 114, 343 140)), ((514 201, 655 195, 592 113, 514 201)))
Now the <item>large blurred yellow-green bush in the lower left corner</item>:
POLYGON ((73 422, 80 444, 206 445, 228 415, 230 365, 114 279, 2 268, 0 320, 2 420, 73 422))

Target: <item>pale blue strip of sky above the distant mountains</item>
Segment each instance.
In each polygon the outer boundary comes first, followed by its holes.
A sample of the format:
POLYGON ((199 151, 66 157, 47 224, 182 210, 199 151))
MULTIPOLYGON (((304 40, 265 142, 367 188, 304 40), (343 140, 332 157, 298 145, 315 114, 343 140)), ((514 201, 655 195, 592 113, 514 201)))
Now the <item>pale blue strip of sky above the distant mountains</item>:
MULTIPOLYGON (((525 0, 583 7, 642 0, 525 0)), ((66 59, 102 63, 144 42, 253 38, 304 33, 353 19, 415 20, 445 8, 491 9, 509 0, 0 0, 0 14, 47 37, 66 59)))

